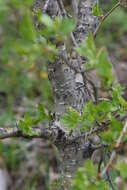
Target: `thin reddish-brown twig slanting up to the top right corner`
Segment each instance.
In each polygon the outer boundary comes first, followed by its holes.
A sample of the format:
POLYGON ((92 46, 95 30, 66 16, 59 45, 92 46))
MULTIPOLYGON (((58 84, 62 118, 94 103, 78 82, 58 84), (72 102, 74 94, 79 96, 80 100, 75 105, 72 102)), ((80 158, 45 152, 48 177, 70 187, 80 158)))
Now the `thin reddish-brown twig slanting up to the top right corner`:
POLYGON ((95 32, 94 32, 94 34, 93 34, 94 37, 96 37, 98 31, 99 31, 100 28, 101 28, 101 25, 102 25, 103 22, 106 20, 106 18, 108 18, 108 16, 111 15, 112 12, 113 12, 115 9, 117 9, 119 6, 121 6, 121 1, 119 1, 118 3, 116 3, 116 4, 112 7, 112 9, 111 9, 109 12, 106 13, 106 15, 102 16, 101 21, 100 21, 99 25, 97 26, 97 28, 96 28, 96 30, 95 30, 95 32))

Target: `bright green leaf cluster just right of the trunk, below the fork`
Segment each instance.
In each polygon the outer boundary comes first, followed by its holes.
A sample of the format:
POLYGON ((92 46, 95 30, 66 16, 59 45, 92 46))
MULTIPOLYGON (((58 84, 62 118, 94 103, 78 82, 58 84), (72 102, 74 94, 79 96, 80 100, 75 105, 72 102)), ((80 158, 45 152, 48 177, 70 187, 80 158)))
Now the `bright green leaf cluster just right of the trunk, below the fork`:
POLYGON ((76 48, 77 52, 87 58, 85 64, 86 70, 97 69, 101 78, 101 84, 104 89, 111 87, 114 76, 112 74, 112 64, 109 61, 108 54, 104 48, 96 51, 96 46, 91 33, 88 34, 87 40, 76 48))

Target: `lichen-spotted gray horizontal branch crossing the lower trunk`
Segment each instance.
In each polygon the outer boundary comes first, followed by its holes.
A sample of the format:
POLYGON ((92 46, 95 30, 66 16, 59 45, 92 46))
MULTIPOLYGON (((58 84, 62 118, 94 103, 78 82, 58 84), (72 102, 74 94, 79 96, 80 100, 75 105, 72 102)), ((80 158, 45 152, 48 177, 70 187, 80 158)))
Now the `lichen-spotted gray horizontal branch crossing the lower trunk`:
MULTIPOLYGON (((127 119, 127 115, 119 117, 116 116, 116 119, 119 121, 124 121, 127 119)), ((110 120, 107 120, 105 123, 99 124, 98 122, 96 123, 98 126, 95 128, 92 128, 89 132, 84 132, 81 135, 77 134, 74 135, 74 133, 69 134, 68 131, 65 131, 63 127, 59 127, 57 125, 50 126, 50 127, 32 127, 31 128, 31 133, 32 135, 26 135, 22 132, 22 130, 19 128, 19 126, 16 124, 15 127, 6 127, 2 128, 0 127, 0 139, 5 139, 5 138, 10 138, 10 137, 24 137, 24 138, 44 138, 48 140, 53 140, 59 138, 59 135, 61 133, 62 138, 66 138, 66 140, 69 143, 76 142, 77 139, 85 138, 85 136, 91 136, 94 133, 99 133, 102 132, 106 129, 106 127, 110 124, 110 120), (64 137, 63 137, 64 136, 64 137)), ((125 125, 126 126, 126 125, 125 125)), ((127 127, 127 126, 126 126, 127 127)), ((126 128, 124 127, 123 130, 121 131, 120 137, 117 140, 116 148, 119 148, 120 142, 126 132, 126 128)), ((62 140, 61 140, 62 141, 62 140)))

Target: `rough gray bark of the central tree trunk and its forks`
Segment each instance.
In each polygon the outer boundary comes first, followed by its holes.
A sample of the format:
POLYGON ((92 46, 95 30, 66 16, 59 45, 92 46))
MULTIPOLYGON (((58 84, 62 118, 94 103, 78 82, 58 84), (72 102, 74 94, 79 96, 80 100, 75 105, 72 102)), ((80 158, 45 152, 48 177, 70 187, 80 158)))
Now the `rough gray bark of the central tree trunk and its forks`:
MULTIPOLYGON (((95 3, 96 0, 80 0, 78 3, 77 25, 74 31, 77 45, 80 45, 87 38, 88 32, 93 32, 97 26, 98 19, 92 15, 92 7, 95 3)), ((35 6, 37 4, 43 10, 44 2, 36 0, 35 6)), ((56 0, 50 0, 47 13, 52 17, 61 16, 56 0)), ((63 129, 59 117, 65 113, 67 107, 71 106, 81 113, 83 104, 90 99, 94 101, 94 95, 86 74, 82 72, 84 59, 79 58, 77 54, 72 56, 73 49, 68 56, 64 41, 58 46, 58 50, 58 58, 53 63, 48 63, 47 68, 54 97, 55 122, 53 125, 63 129), (82 87, 78 88, 79 86, 82 87)), ((72 173, 74 174, 75 170, 91 155, 90 142, 80 138, 75 143, 68 144, 67 139, 63 141, 61 134, 57 143, 62 157, 62 170, 67 176, 72 176, 72 173)))

